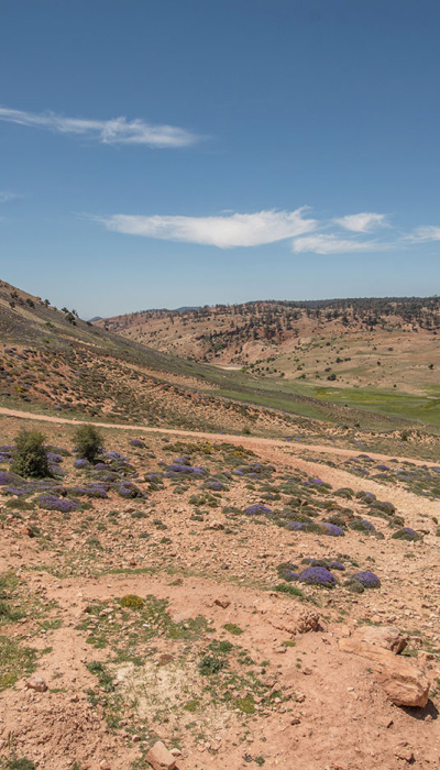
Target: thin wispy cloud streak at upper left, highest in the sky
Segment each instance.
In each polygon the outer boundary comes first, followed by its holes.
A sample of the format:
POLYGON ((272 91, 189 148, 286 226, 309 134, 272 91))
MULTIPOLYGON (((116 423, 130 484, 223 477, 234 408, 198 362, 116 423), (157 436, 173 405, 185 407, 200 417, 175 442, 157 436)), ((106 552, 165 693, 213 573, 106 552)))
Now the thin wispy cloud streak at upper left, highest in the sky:
POLYGON ((185 147, 199 141, 199 136, 174 125, 153 125, 142 120, 127 118, 112 120, 85 120, 65 118, 54 112, 23 112, 0 107, 0 120, 55 133, 85 136, 101 144, 146 144, 151 147, 185 147))

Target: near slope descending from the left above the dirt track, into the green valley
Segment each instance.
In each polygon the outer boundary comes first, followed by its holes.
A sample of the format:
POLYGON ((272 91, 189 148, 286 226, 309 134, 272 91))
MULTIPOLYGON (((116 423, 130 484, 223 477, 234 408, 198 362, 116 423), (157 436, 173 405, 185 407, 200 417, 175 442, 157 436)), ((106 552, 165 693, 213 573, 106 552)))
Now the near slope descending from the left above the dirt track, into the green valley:
POLYGON ((430 395, 396 389, 384 398, 383 392, 314 389, 251 367, 224 371, 101 329, 6 283, 0 285, 0 406, 9 408, 152 427, 353 440, 359 431, 440 425, 439 399, 430 395))

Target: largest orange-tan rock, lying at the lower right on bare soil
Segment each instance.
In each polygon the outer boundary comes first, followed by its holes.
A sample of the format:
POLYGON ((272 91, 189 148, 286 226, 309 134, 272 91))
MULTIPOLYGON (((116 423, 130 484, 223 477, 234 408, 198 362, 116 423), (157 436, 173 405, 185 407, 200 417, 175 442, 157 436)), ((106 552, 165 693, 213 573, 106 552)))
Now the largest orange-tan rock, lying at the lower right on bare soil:
POLYGON ((373 668, 377 682, 396 706, 424 707, 428 703, 429 683, 422 671, 409 660, 353 637, 340 639, 339 647, 344 652, 359 654, 375 663, 373 668))

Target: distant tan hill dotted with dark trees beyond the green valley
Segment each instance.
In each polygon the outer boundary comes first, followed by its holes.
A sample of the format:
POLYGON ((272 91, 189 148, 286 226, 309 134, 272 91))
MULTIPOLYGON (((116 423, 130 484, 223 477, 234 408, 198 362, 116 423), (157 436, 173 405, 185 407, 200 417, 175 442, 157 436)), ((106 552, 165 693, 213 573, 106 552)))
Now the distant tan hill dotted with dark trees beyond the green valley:
POLYGON ((258 377, 421 394, 440 365, 440 299, 249 302, 150 310, 97 326, 156 350, 258 377))

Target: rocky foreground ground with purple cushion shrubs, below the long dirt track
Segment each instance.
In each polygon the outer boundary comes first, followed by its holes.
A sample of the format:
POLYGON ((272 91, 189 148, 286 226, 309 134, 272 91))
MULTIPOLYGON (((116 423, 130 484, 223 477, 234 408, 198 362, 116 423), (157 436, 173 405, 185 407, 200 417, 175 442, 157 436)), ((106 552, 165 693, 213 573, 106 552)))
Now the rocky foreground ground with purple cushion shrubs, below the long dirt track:
POLYGON ((435 462, 0 419, 0 767, 439 766, 435 462))

